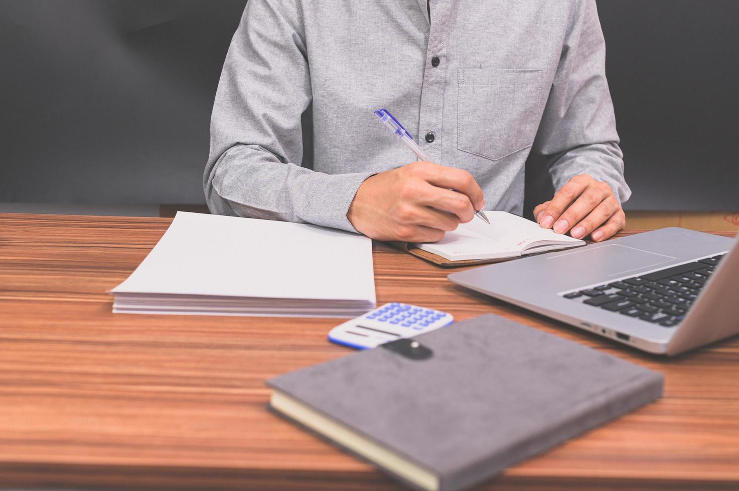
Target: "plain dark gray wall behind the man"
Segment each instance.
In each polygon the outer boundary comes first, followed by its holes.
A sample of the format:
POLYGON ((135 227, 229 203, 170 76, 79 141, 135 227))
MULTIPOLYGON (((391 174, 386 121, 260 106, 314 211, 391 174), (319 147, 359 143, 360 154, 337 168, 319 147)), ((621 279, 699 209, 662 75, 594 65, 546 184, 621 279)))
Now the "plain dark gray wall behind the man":
MULTIPOLYGON (((202 203, 244 4, 0 0, 0 202, 202 203)), ((739 2, 598 5, 627 208, 739 209, 739 2)))

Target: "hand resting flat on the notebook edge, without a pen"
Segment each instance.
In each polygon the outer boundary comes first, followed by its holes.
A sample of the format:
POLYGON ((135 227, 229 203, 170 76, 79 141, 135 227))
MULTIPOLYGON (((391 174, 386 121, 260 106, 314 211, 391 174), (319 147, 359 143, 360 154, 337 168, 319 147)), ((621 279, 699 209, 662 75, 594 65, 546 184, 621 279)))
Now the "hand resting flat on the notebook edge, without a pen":
POLYGON ((590 234, 596 242, 613 236, 626 224, 624 210, 610 186, 586 174, 574 176, 551 201, 535 207, 534 217, 556 233, 570 232, 574 238, 590 234))

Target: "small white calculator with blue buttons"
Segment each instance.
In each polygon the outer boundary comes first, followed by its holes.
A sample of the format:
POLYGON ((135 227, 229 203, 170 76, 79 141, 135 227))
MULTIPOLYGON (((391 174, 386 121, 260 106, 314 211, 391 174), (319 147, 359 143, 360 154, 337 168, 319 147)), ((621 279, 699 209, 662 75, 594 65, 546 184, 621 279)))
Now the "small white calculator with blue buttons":
POLYGON ((388 341, 418 336, 451 323, 454 323, 454 317, 446 312, 393 302, 336 326, 328 333, 328 338, 334 343, 352 348, 374 348, 388 341))

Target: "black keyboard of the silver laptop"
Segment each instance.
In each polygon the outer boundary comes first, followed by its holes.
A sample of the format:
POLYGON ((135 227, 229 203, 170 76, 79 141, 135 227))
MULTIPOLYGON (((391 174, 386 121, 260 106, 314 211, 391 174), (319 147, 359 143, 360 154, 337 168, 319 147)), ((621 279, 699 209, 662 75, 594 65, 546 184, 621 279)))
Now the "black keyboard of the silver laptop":
POLYGON ((677 326, 723 254, 564 295, 664 327, 677 326))

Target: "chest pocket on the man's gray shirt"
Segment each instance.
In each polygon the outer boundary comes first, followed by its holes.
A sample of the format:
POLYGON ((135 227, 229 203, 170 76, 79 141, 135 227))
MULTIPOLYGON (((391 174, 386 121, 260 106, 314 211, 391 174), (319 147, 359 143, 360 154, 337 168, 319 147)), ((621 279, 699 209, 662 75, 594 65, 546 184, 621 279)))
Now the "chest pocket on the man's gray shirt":
POLYGON ((542 70, 464 68, 457 73, 457 148, 498 160, 534 143, 542 70))

